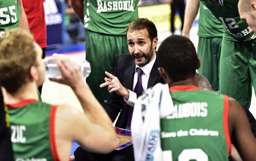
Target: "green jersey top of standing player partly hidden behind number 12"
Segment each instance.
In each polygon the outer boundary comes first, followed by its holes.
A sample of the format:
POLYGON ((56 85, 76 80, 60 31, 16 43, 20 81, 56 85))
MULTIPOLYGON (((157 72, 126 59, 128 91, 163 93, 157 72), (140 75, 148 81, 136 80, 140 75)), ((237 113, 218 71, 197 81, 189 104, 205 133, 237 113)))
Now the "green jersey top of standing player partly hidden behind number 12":
POLYGON ((197 35, 204 38, 222 37, 224 32, 222 24, 206 7, 203 6, 201 2, 199 7, 199 25, 197 35))

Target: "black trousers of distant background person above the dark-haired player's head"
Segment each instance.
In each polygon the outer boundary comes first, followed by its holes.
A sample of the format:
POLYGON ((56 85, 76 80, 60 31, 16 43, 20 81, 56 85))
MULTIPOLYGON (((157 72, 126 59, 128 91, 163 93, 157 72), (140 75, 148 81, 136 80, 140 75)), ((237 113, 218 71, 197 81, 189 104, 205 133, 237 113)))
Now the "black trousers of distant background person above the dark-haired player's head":
POLYGON ((171 4, 171 33, 174 33, 174 15, 176 14, 177 9, 179 9, 179 17, 181 18, 181 31, 183 29, 184 23, 184 13, 185 13, 185 1, 184 0, 173 0, 171 4))

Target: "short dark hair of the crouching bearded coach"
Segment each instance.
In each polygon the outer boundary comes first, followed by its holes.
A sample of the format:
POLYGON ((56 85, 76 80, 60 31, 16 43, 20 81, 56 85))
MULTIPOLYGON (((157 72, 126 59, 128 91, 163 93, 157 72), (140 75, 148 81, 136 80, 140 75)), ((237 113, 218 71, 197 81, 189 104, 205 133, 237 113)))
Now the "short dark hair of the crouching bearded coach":
POLYGON ((127 27, 126 35, 127 35, 128 31, 143 30, 145 28, 148 30, 148 35, 152 42, 153 39, 157 37, 156 26, 151 20, 148 20, 145 18, 139 18, 136 20, 132 20, 132 22, 130 22, 129 26, 127 27))

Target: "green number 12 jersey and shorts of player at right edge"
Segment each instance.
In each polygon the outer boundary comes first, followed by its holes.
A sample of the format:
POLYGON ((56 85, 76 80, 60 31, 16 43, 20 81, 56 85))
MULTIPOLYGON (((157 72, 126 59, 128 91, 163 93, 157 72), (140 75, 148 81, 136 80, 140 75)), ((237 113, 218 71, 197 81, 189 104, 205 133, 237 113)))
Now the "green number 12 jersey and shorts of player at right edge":
POLYGON ((220 92, 250 107, 252 85, 256 88, 255 35, 239 17, 239 0, 201 0, 224 28, 220 57, 220 92))

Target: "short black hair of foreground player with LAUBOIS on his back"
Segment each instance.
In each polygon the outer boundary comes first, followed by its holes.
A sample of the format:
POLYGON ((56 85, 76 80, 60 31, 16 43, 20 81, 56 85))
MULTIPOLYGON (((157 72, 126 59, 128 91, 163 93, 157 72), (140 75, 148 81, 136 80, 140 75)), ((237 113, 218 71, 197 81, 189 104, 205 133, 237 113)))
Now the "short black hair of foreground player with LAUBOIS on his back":
POLYGON ((197 52, 194 44, 184 36, 169 36, 158 49, 158 62, 171 80, 185 80, 195 75, 197 52))

